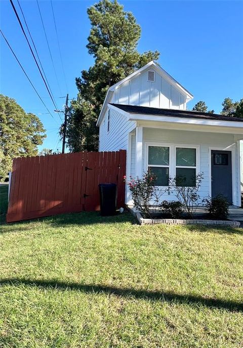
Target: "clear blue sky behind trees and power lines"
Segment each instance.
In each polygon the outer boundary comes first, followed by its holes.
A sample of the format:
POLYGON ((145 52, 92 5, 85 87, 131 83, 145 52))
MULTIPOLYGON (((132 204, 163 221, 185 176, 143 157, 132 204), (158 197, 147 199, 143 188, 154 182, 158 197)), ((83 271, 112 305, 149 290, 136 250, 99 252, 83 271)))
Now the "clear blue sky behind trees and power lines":
MULTIPOLYGON (((34 39, 56 103, 62 108, 66 93, 76 97, 75 77, 93 64, 87 52, 90 22, 87 8, 93 1, 53 0, 68 90, 62 72, 49 0, 39 0, 51 52, 58 74, 55 77, 36 1, 19 0, 34 39)), ((20 14, 18 3, 15 6, 20 14)), ((194 95, 191 109, 204 100, 220 112, 225 97, 243 97, 243 2, 242 1, 133 1, 120 0, 141 25, 138 50, 158 50, 160 65, 194 95)), ((49 110, 54 106, 34 64, 9 1, 1 2, 1 28, 49 110)), ((14 98, 26 112, 39 116, 47 130, 41 146, 61 149, 58 115, 53 118, 36 96, 1 37, 1 93, 14 98)))

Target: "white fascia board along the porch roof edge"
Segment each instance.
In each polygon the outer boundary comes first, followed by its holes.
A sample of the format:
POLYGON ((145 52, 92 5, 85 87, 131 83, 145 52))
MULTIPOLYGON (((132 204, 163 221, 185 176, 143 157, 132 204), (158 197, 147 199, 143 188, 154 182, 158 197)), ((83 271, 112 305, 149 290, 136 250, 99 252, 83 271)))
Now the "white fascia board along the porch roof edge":
MULTIPOLYGON (((195 119, 195 118, 183 118, 174 116, 156 116, 156 115, 144 115, 144 114, 133 114, 129 113, 129 120, 131 121, 154 121, 154 122, 165 122, 173 124, 186 124, 186 125, 201 125, 201 126, 216 126, 216 127, 227 127, 232 129, 235 134, 243 134, 243 122, 237 121, 221 121, 221 120, 206 120, 206 119, 195 119)), ((210 130, 208 130, 210 132, 210 130)))

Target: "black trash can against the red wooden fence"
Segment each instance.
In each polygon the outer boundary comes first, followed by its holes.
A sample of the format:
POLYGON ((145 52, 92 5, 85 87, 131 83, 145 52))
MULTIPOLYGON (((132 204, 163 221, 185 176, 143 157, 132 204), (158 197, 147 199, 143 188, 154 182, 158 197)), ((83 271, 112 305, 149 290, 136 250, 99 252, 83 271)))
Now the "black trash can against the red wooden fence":
POLYGON ((101 215, 115 215, 117 196, 116 184, 99 184, 99 191, 101 215))

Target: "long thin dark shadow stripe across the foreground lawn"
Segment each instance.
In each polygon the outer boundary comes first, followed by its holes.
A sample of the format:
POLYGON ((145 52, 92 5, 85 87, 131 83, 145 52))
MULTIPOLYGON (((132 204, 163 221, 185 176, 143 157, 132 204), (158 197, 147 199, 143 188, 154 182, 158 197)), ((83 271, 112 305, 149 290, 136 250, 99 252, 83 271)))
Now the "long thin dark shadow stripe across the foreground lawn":
POLYGON ((204 298, 202 296, 194 295, 182 295, 174 292, 159 292, 159 291, 147 291, 136 290, 130 288, 116 288, 112 286, 102 285, 86 285, 78 283, 64 283, 55 280, 31 280, 24 278, 10 278, 0 280, 0 285, 28 285, 33 287, 48 288, 54 290, 78 290, 86 293, 106 293, 114 294, 123 297, 133 296, 135 298, 152 299, 162 302, 178 302, 184 304, 201 304, 208 308, 226 309, 229 311, 243 312, 243 303, 236 301, 228 301, 217 298, 204 298))

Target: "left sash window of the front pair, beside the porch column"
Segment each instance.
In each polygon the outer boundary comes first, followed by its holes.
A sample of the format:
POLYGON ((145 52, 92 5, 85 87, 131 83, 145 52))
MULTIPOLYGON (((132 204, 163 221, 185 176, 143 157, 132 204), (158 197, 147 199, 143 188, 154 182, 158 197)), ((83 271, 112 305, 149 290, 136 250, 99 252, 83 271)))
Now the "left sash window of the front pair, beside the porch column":
POLYGON ((168 186, 170 148, 166 146, 148 146, 148 169, 156 176, 157 186, 168 186))

